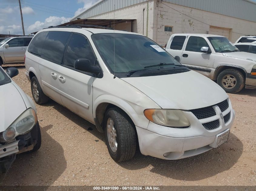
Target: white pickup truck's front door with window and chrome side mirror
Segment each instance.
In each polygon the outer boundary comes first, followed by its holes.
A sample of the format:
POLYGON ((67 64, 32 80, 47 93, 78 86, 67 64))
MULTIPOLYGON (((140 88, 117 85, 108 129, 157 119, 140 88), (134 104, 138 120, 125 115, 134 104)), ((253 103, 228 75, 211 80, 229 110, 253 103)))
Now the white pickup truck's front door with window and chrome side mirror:
MULTIPOLYGON (((209 46, 208 42, 202 37, 190 36, 185 42, 185 48, 181 56, 181 64, 189 66, 189 68, 203 75, 210 75, 211 68, 214 64, 214 52, 202 53, 201 48, 203 46, 209 46), (209 73, 207 75, 207 73, 209 73)), ((213 51, 213 50, 211 50, 213 51)))

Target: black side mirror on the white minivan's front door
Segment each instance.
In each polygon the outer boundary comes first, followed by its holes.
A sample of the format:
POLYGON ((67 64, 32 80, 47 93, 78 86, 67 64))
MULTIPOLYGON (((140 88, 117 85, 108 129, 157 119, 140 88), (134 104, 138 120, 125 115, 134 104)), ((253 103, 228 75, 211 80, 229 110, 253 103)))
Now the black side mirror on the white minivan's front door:
POLYGON ((74 68, 83 72, 92 73, 98 75, 101 72, 101 68, 98 66, 92 66, 90 60, 79 58, 75 60, 74 68))

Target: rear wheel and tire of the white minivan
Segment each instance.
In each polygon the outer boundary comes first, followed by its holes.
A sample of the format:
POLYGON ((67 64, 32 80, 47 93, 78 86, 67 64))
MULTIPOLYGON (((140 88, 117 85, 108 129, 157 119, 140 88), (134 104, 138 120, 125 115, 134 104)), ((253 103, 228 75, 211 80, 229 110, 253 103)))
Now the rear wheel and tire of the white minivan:
POLYGON ((40 105, 48 102, 49 97, 44 94, 38 82, 38 79, 35 76, 31 79, 31 92, 35 103, 40 105), (34 83, 36 84, 36 86, 34 86, 34 83), (34 92, 35 88, 37 88, 37 94, 34 92))

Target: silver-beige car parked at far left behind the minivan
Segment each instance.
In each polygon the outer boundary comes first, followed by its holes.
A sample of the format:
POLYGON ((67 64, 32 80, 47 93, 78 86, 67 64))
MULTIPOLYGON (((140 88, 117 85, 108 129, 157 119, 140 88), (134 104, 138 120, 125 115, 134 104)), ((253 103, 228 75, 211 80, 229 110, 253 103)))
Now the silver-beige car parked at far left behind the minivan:
POLYGON ((24 63, 24 55, 31 36, 10 37, 0 42, 0 66, 3 64, 24 63))

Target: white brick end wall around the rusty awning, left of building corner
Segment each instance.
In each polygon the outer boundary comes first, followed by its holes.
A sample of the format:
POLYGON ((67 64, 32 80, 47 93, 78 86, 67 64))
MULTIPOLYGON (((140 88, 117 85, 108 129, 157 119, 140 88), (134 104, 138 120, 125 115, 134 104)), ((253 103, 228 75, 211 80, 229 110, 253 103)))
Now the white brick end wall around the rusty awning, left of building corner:
MULTIPOLYGON (((144 35, 147 32, 147 7, 148 7, 148 37, 153 38, 154 0, 131 5, 115 11, 115 19, 136 19, 133 23, 133 32, 143 34, 143 8, 144 11, 144 35)), ((81 18, 82 19, 82 18, 81 18)), ((114 19, 114 11, 89 17, 88 19, 114 19)), ((114 27, 112 24, 111 27, 114 27)), ((131 31, 131 23, 115 25, 115 29, 131 31)))

